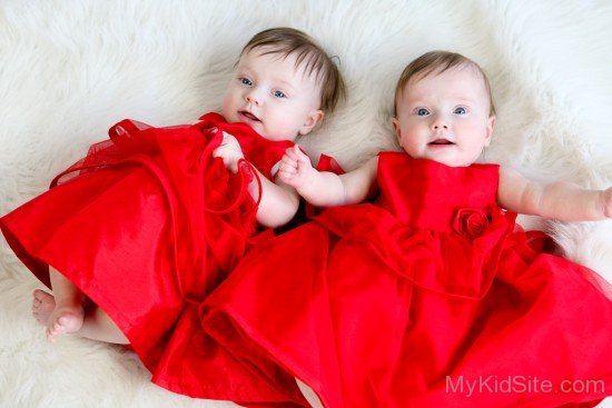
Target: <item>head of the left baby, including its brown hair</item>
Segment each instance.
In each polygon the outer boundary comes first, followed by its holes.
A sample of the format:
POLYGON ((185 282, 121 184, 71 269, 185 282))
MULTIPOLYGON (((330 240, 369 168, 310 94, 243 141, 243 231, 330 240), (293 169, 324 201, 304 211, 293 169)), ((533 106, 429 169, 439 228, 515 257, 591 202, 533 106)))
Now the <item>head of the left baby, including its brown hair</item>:
POLYGON ((323 48, 292 28, 261 31, 240 53, 223 101, 229 122, 269 140, 295 140, 344 98, 342 76, 323 48))

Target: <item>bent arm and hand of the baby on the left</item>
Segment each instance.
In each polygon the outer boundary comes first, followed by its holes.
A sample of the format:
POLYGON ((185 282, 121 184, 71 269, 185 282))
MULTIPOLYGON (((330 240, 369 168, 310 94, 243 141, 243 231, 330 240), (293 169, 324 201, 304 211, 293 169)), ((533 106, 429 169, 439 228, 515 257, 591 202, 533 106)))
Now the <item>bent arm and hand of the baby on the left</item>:
MULTIPOLYGON (((226 132, 224 132, 221 145, 213 151, 213 157, 221 158, 225 167, 231 172, 238 171, 238 161, 244 159, 238 140, 226 132)), ((287 185, 272 182, 257 169, 253 167, 250 169, 257 172, 258 179, 261 181, 261 201, 259 201, 257 208, 257 221, 264 227, 270 228, 289 222, 299 206, 297 192, 287 185)), ((259 186, 255 179, 248 185, 248 191, 253 199, 257 201, 259 186)))

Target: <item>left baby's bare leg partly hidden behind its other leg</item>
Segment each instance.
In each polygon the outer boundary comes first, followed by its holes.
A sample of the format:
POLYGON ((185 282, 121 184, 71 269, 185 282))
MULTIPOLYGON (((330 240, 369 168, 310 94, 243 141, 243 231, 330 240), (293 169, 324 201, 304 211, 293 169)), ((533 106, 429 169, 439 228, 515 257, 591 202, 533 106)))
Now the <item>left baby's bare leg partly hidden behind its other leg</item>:
MULTIPOLYGON (((32 295, 32 315, 41 325, 48 326, 49 318, 56 308, 56 299, 40 289, 34 290, 32 295)), ((129 344, 117 325, 98 307, 93 307, 91 310, 88 309, 78 335, 88 339, 118 345, 129 344)))

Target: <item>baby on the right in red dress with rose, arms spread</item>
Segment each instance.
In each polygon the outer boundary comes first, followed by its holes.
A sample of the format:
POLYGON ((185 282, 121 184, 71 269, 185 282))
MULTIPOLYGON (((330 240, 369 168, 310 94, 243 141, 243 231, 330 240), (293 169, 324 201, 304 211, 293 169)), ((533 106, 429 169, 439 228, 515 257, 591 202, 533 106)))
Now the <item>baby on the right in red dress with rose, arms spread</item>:
POLYGON ((272 357, 325 407, 591 406, 611 395, 612 288, 546 253, 515 217, 603 220, 612 189, 475 163, 496 117, 485 73, 461 54, 409 63, 395 103, 403 152, 336 176, 288 150, 280 179, 337 207, 244 257, 206 299, 203 326, 237 359, 272 357), (461 388, 487 378, 512 390, 461 388), (571 387, 580 380, 593 386, 571 387))

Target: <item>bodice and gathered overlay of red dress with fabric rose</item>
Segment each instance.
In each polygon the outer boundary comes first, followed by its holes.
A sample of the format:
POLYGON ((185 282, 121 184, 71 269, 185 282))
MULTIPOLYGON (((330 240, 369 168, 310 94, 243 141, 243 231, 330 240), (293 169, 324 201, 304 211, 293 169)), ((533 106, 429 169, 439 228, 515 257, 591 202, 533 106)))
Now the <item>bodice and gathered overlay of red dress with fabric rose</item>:
POLYGON ((495 203, 497 181, 497 165, 452 168, 383 152, 377 200, 326 209, 316 222, 363 242, 392 270, 423 288, 481 298, 514 228, 515 215, 495 203))

